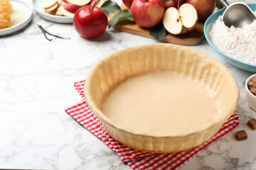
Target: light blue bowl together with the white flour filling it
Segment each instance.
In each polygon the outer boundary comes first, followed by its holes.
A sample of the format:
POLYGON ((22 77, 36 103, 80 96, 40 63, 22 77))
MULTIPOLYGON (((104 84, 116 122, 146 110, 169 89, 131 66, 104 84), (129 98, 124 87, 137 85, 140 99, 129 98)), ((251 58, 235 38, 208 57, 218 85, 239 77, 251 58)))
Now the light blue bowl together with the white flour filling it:
MULTIPOLYGON (((256 4, 248 4, 256 11, 256 4)), ((221 21, 225 9, 213 13, 205 23, 204 33, 209 44, 230 64, 256 72, 256 21, 247 28, 228 28, 221 21)))

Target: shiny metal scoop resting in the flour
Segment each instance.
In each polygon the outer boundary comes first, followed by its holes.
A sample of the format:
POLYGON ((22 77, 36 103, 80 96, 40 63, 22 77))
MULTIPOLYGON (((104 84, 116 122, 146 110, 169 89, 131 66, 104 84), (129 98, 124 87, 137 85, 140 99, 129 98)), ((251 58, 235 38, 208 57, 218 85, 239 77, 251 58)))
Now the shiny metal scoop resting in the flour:
POLYGON ((247 4, 243 2, 235 2, 229 6, 227 1, 219 1, 226 7, 222 18, 226 26, 244 28, 256 20, 255 13, 249 6, 247 6, 247 4))

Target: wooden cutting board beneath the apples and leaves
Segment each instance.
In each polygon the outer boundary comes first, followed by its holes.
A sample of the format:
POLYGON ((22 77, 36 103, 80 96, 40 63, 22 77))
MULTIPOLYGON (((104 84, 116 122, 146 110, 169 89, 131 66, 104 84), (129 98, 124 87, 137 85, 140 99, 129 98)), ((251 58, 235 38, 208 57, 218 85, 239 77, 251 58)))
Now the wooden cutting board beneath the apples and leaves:
MULTIPOLYGON (((122 4, 120 7, 122 9, 127 8, 126 6, 124 6, 124 4, 122 4)), ((110 15, 110 19, 112 19, 113 16, 114 13, 110 15)), ((151 37, 151 35, 149 35, 149 28, 140 28, 136 23, 131 21, 121 21, 120 23, 114 25, 114 28, 127 33, 155 39, 151 37)), ((171 33, 167 33, 161 41, 171 42, 177 45, 198 45, 203 39, 203 36, 203 23, 198 22, 196 28, 190 33, 186 33, 183 35, 172 35, 171 33)))

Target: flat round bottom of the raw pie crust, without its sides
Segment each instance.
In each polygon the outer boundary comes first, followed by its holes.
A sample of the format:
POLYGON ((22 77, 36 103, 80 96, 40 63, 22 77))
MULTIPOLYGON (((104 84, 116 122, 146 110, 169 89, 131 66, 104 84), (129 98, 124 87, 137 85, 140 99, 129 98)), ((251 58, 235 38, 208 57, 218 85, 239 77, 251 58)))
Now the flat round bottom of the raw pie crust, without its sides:
POLYGON ((176 72, 132 77, 107 94, 102 113, 124 129, 145 135, 187 135, 219 117, 215 94, 176 72))

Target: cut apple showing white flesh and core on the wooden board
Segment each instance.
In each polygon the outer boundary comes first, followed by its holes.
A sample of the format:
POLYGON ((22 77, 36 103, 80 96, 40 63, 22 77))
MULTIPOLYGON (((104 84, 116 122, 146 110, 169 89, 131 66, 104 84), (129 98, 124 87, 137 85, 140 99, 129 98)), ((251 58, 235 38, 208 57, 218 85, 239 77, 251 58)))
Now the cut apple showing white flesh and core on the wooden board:
POLYGON ((164 28, 174 35, 190 32, 196 28, 197 23, 198 14, 191 4, 182 4, 178 9, 168 8, 163 17, 164 28))

